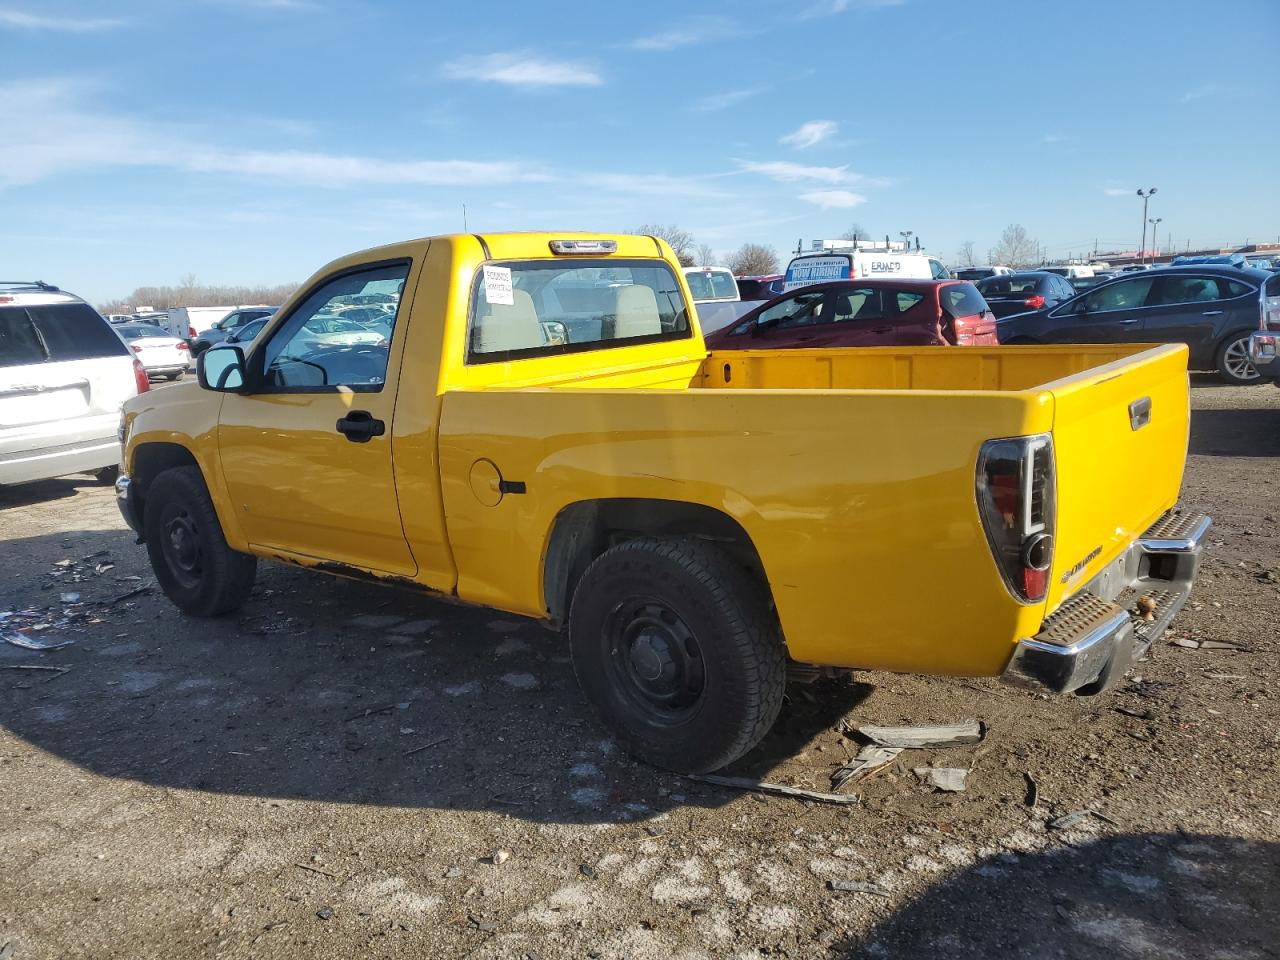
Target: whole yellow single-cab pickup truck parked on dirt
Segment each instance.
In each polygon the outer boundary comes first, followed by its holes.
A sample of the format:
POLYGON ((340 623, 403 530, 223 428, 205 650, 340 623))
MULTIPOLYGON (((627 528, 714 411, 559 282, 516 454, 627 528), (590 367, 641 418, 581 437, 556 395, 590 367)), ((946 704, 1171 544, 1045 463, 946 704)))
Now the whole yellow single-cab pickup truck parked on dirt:
POLYGON ((708 353, 659 239, 433 237, 131 401, 116 493, 188 613, 262 557, 567 623, 627 748, 708 771, 788 669, 1121 675, 1208 529, 1175 509, 1185 351, 708 353))

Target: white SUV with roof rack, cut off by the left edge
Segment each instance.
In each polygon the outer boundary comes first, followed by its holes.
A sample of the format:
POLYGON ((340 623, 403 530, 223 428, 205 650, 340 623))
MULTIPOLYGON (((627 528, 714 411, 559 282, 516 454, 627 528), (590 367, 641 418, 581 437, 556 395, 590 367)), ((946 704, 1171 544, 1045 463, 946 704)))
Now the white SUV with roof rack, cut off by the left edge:
POLYGON ((64 474, 110 483, 120 406, 147 374, 79 297, 0 282, 0 485, 64 474))

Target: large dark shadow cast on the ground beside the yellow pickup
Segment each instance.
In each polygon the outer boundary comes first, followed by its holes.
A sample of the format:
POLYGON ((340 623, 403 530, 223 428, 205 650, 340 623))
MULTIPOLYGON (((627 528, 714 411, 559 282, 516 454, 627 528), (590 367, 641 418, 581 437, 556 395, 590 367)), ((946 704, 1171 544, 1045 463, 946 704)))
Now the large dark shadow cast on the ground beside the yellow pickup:
MULTIPOLYGON (((125 531, 0 541, 0 612, 29 609, 23 622, 49 625, 37 636, 76 640, 0 641, 0 723, 92 773, 562 823, 736 796, 627 758, 582 701, 562 636, 532 621, 268 563, 241 613, 187 618, 125 531)), ((869 690, 806 687, 732 773, 767 776, 869 690)))

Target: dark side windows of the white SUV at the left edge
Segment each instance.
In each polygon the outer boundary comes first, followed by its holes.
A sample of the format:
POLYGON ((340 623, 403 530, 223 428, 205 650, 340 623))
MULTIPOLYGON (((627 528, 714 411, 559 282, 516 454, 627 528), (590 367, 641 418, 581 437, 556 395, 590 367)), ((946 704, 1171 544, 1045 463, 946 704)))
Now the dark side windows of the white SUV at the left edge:
POLYGON ((0 306, 0 367, 129 356, 88 303, 0 306))

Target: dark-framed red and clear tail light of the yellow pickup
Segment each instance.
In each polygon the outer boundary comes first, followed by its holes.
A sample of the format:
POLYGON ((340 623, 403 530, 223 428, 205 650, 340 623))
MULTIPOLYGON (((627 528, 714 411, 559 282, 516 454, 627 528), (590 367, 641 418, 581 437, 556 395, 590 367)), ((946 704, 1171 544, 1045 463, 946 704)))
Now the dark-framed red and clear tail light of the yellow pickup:
POLYGON ((1048 434, 987 440, 978 454, 978 512, 1009 591, 1043 600, 1053 562, 1057 494, 1048 434))

